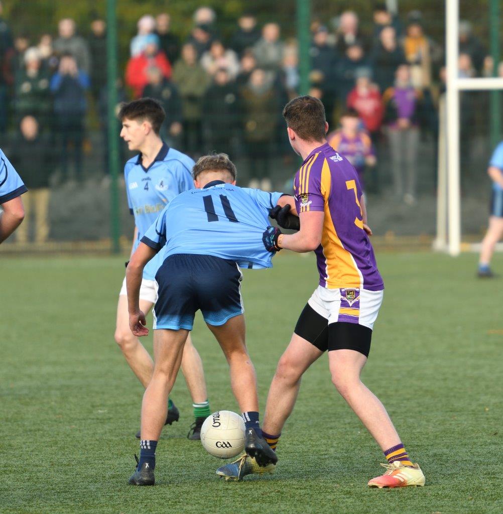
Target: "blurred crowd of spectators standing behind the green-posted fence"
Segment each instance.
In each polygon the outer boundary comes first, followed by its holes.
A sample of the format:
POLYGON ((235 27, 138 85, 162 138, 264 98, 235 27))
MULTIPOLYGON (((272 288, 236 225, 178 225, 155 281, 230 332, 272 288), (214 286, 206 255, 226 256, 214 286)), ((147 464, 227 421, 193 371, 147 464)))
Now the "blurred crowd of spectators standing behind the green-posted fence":
MULTIPOLYGON (((371 31, 345 11, 329 26, 314 21, 311 38, 310 94, 325 104, 329 140, 362 181, 367 169, 374 190, 376 163, 387 152, 396 197, 414 203, 420 134, 434 141, 438 130, 443 48, 428 35, 419 11, 399 18, 384 4, 374 9, 371 31)), ((460 76, 492 75, 492 60, 467 21, 460 24, 459 45, 460 76)), ((169 144, 193 157, 216 150, 247 158, 250 185, 271 188, 273 159, 290 153, 281 111, 299 93, 295 39, 284 38, 277 23, 258 26, 252 13, 241 15, 232 36, 223 39, 215 12, 200 7, 184 41, 168 13, 142 16, 129 50, 117 83, 120 100, 158 99, 169 144)), ((502 66, 499 71, 503 75, 502 66)), ((464 107, 466 122, 470 106, 464 107)), ((86 120, 96 120, 106 144, 106 113, 105 20, 79 32, 73 20, 63 19, 56 36, 35 41, 11 33, 0 4, 0 135, 15 128, 11 155, 28 188, 47 190, 54 169, 62 180, 79 180, 89 144, 86 120), (29 172, 34 155, 37 170, 29 172)), ((42 217, 46 197, 33 200, 42 217)), ((42 241, 47 229, 37 234, 42 241)))

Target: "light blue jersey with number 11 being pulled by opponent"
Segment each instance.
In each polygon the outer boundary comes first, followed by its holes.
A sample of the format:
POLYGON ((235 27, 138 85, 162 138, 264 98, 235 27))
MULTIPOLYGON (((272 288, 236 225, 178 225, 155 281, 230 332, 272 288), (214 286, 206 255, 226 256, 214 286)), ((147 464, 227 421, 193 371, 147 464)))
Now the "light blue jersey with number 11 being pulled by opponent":
POLYGON ((215 180, 178 195, 141 241, 160 250, 162 262, 191 253, 235 261, 241 268, 270 268, 273 254, 265 249, 262 234, 282 194, 215 180))

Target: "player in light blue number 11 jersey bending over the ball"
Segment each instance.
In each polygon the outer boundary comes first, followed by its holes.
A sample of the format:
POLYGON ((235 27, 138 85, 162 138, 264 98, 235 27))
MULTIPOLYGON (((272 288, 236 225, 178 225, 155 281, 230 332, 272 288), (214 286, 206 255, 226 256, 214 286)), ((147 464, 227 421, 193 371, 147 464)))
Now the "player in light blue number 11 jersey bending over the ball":
POLYGON ((129 326, 135 336, 145 336, 148 329, 139 303, 142 273, 159 252, 154 374, 143 396, 140 460, 129 479, 133 485, 154 485, 166 399, 199 309, 229 363, 232 392, 246 426, 245 451, 262 471, 277 461, 259 427, 255 369, 245 343, 240 267, 272 266, 273 254, 262 241, 268 214, 276 206, 295 209, 293 197, 237 187, 236 168, 226 154, 201 157, 193 176, 197 189, 181 193, 164 208, 141 238, 126 271, 129 326))

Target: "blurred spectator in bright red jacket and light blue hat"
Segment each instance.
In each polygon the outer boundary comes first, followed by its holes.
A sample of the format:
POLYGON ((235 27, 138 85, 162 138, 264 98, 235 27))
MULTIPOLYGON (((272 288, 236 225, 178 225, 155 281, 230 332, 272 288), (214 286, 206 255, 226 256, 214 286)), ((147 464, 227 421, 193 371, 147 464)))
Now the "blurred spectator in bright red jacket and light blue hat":
POLYGON ((132 57, 126 66, 126 84, 133 88, 135 98, 140 98, 143 88, 148 84, 147 70, 156 67, 163 77, 171 78, 171 64, 164 52, 159 50, 159 38, 150 34, 145 40, 145 48, 139 56, 132 57))

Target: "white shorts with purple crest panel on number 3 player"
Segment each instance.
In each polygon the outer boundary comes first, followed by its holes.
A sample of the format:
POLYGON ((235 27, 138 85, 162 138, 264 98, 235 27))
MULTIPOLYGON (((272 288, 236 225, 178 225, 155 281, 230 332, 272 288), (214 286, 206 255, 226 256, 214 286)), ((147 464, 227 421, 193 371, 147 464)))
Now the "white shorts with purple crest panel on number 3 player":
POLYGON ((328 320, 328 324, 344 321, 374 328, 384 291, 359 288, 327 289, 318 286, 308 304, 328 320))

